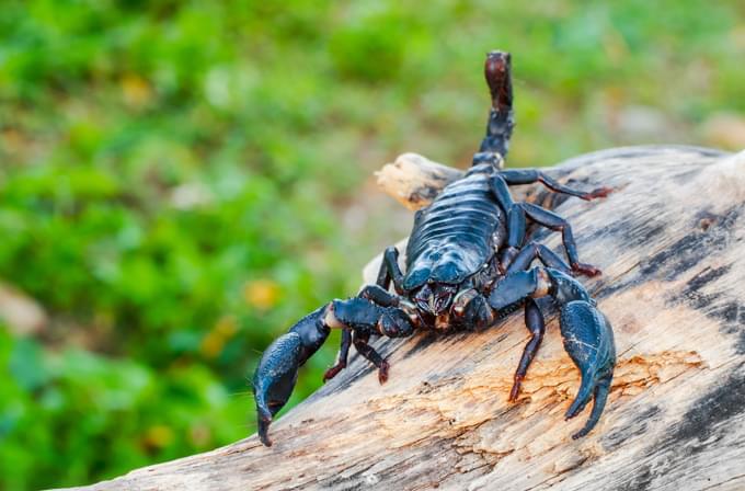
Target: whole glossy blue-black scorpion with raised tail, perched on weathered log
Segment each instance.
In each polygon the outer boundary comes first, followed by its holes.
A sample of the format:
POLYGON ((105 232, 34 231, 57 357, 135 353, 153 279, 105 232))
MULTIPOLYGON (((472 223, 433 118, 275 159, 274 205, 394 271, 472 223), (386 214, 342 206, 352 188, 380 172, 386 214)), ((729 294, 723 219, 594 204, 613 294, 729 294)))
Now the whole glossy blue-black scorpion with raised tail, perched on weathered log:
POLYGON ((406 247, 405 273, 399 251, 388 248, 375 285, 345 300, 333 300, 306 316, 264 352, 253 377, 259 437, 272 443, 272 418, 289 399, 298 368, 326 340, 342 330, 336 363, 329 380, 346 367, 349 347, 378 368, 385 382, 389 365, 369 344, 370 336, 405 338, 416 330, 484 329, 517 307, 525 308, 530 339, 515 372, 509 400, 536 355, 545 332, 536 298, 549 296, 560 310, 564 347, 582 373, 577 397, 566 418, 594 400, 584 427, 587 434, 605 407, 616 362, 610 323, 572 274, 594 276, 599 271, 580 262, 572 227, 540 206, 515 202, 509 185, 540 182, 549 190, 583 199, 606 196, 566 187, 538 170, 503 170, 514 127, 509 55, 486 56, 485 78, 492 96, 486 136, 466 175, 446 186, 429 206, 416 213, 406 247), (526 240, 526 222, 562 233, 569 263, 546 246, 526 240), (534 260, 541 265, 531 267, 534 260), (390 292, 391 283, 393 292, 390 292))

